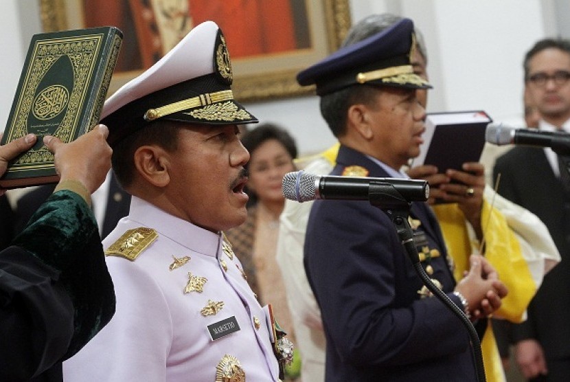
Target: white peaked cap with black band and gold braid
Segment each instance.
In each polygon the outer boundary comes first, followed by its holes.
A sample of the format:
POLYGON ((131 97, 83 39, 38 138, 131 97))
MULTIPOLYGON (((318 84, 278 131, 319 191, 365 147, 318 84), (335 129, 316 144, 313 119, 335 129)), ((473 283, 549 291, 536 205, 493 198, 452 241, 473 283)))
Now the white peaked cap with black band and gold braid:
POLYGON ((233 100, 231 63, 223 34, 205 21, 140 76, 106 100, 101 122, 111 144, 162 119, 193 124, 258 122, 233 100))

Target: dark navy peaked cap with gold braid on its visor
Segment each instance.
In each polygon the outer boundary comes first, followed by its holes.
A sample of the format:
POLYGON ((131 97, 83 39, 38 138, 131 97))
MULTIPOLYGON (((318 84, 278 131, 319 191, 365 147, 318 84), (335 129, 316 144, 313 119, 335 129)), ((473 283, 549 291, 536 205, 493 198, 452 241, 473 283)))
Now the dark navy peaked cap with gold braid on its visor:
POLYGON ((410 62, 413 49, 413 21, 402 19, 299 72, 297 82, 304 86, 317 85, 318 95, 357 84, 431 88, 429 82, 413 73, 410 62))

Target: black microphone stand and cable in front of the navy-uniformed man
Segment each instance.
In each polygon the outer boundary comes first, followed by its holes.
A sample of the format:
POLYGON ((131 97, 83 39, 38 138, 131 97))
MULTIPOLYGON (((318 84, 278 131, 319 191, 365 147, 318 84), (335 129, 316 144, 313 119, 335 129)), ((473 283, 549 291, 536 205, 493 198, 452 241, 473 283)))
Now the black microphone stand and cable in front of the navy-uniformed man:
POLYGON ((418 249, 413 243, 413 231, 408 221, 411 203, 404 199, 402 195, 389 183, 370 183, 368 199, 370 204, 374 207, 380 208, 385 214, 388 215, 391 222, 396 227, 396 233, 405 251, 407 252, 415 272, 418 273, 422 282, 435 297, 441 300, 446 307, 448 307, 453 314, 461 320, 461 323, 467 328, 469 337, 471 339, 471 355, 475 362, 475 370, 477 371, 477 380, 485 382, 485 368, 483 366, 483 355, 481 353, 481 341, 477 330, 472 322, 465 315, 455 302, 451 300, 443 291, 441 291, 429 278, 420 263, 420 256, 418 249), (388 201, 391 199, 391 201, 388 201))

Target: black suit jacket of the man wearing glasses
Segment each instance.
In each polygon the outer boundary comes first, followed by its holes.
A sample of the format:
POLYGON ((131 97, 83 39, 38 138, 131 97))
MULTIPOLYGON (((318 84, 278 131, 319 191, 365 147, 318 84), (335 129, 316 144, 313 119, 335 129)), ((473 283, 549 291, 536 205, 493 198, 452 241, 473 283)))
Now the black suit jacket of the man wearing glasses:
POLYGON ((554 175, 543 148, 517 146, 499 157, 499 194, 525 207, 547 226, 562 262, 544 278, 528 308, 528 320, 517 325, 513 339, 538 339, 547 359, 570 357, 570 199, 554 175))

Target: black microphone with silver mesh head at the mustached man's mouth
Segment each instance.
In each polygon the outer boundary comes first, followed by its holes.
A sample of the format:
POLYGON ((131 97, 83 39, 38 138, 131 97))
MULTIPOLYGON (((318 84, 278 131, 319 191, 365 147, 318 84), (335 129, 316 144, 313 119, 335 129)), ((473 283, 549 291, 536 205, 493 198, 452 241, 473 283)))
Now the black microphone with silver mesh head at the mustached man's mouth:
POLYGON ((426 201, 429 186, 420 180, 319 176, 301 170, 288 172, 283 177, 283 194, 287 199, 301 203, 315 199, 343 199, 375 201, 388 206, 426 201))

